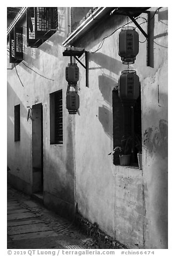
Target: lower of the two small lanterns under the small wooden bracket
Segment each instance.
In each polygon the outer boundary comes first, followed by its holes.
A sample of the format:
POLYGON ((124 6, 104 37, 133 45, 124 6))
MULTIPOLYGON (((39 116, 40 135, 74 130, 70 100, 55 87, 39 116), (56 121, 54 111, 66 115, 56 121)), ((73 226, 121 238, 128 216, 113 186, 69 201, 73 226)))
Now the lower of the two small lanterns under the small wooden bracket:
POLYGON ((79 95, 75 87, 68 84, 68 90, 66 95, 66 108, 69 114, 76 114, 79 109, 79 95))

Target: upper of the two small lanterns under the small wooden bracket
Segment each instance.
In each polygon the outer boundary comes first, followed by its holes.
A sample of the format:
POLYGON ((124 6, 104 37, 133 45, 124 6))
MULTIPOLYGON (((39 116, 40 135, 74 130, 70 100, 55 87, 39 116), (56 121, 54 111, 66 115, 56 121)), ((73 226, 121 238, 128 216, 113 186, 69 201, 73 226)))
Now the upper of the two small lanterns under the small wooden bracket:
POLYGON ((75 84, 79 80, 79 68, 77 63, 68 63, 65 68, 65 79, 72 84, 75 84))

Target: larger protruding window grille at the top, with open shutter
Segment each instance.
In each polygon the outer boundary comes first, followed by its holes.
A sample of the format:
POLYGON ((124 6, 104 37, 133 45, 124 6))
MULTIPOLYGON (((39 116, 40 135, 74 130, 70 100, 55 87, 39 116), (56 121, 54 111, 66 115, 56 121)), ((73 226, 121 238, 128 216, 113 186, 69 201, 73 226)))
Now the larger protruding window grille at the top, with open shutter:
POLYGON ((27 46, 38 47, 57 29, 57 7, 31 7, 27 9, 27 46))

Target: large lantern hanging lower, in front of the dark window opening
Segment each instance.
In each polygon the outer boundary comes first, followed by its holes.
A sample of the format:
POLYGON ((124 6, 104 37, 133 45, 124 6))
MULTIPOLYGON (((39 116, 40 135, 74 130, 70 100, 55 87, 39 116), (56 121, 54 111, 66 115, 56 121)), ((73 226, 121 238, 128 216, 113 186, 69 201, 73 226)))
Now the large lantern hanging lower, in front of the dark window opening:
POLYGON ((134 102, 140 95, 140 81, 135 70, 123 70, 119 78, 119 97, 123 102, 134 102))

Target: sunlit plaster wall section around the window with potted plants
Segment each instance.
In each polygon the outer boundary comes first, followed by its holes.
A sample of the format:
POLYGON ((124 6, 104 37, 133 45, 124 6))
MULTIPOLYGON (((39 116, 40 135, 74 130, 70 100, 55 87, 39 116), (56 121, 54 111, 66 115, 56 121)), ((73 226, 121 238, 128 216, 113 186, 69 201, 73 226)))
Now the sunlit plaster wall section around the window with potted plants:
MULTIPOLYGON (((156 8, 151 11, 154 14, 156 8)), ((138 23, 147 18, 141 17, 138 23)), ((146 42, 140 43, 136 62, 130 65, 141 80, 142 134, 149 132, 143 147, 143 170, 114 166, 108 156, 113 148, 112 89, 126 69, 118 55, 120 30, 92 53, 127 19, 112 16, 76 42, 90 52, 89 88, 85 87, 85 70, 79 65, 80 108, 75 133, 78 211, 131 248, 167 248, 167 8, 160 9, 151 21, 155 24, 151 32, 154 66, 147 67, 146 42)), ((146 31, 146 25, 142 27, 146 31)))

